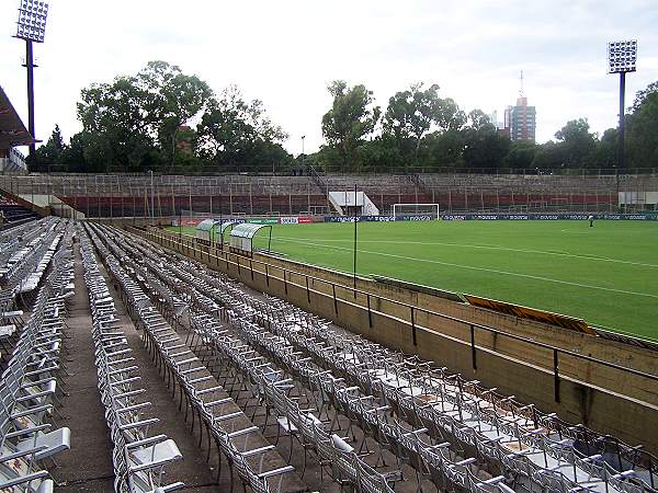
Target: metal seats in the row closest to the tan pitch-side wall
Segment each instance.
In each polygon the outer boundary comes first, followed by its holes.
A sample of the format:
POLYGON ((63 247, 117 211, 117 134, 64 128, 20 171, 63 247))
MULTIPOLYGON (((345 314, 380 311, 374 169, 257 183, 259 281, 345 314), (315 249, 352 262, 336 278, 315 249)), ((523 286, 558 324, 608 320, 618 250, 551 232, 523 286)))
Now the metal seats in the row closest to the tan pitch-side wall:
MULTIPOLYGON (((135 243, 141 253, 149 250, 146 243, 139 244, 135 243)), ((150 260, 161 259, 162 254, 166 253, 159 251, 150 260)), ((261 325, 285 331, 286 339, 298 346, 303 346, 304 337, 322 341, 325 360, 331 362, 337 371, 348 375, 368 393, 384 397, 405 421, 476 448, 487 460, 518 478, 520 483, 530 481, 561 490, 589 488, 638 492, 650 488, 655 480, 650 468, 647 470, 645 465, 633 460, 632 450, 622 446, 613 457, 606 443, 583 426, 565 424, 554 415, 540 413, 532 405, 499 395, 495 389, 484 389, 477 382, 450 376, 444 369, 400 358, 400 355, 353 334, 336 333, 327 324, 281 300, 250 299, 236 286, 206 273, 205 268, 180 261, 175 255, 166 256, 164 261, 160 260, 169 271, 162 275, 163 279, 180 277, 175 283, 180 285, 182 280, 203 295, 212 295, 214 300, 223 300, 223 290, 231 291, 231 298, 224 299, 227 305, 248 301, 252 306, 251 314, 245 311, 240 317, 254 317, 261 325), (188 275, 180 267, 188 268, 188 275), (299 335, 304 337, 299 339, 299 335), (345 356, 337 358, 336 351, 328 352, 327 347, 342 348, 345 356)), ((310 352, 310 348, 306 351, 310 352)), ((322 354, 321 351, 320 347, 318 352, 322 354)))

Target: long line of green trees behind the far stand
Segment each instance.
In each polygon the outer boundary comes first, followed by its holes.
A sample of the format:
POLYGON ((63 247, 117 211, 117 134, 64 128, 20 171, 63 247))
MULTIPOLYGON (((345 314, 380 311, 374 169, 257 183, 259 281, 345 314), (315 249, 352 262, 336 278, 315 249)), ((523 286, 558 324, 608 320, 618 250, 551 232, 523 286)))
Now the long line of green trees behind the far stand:
MULTIPOLYGON (((511 141, 481 110, 465 113, 438 84, 412 84, 386 108, 363 84, 336 80, 322 116, 319 151, 293 157, 287 134, 263 103, 230 85, 216 94, 196 76, 150 61, 134 76, 81 91, 82 130, 64 142, 56 126, 29 160, 38 172, 386 172, 452 169, 616 167, 617 130, 592 133, 587 118, 567 122, 555 140, 511 141), (304 167, 303 167, 304 165, 304 167)), ((658 168, 658 82, 639 91, 625 114, 629 168, 658 168)))

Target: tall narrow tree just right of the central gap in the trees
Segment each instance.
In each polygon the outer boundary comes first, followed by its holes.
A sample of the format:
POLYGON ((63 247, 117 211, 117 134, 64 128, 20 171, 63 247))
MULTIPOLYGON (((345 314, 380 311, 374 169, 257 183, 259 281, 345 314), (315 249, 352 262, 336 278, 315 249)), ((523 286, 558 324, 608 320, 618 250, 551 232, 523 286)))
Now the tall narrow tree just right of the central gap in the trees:
POLYGON ((322 116, 322 135, 337 149, 342 168, 352 169, 356 148, 375 129, 381 110, 373 106, 373 93, 362 84, 348 88, 345 81, 336 80, 327 90, 333 103, 322 116))

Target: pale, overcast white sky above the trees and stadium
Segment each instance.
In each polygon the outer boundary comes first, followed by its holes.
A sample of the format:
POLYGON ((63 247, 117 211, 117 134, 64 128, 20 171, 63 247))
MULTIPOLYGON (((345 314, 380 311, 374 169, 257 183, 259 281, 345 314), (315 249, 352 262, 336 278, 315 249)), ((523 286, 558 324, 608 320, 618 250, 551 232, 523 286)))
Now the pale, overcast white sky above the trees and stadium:
MULTIPOLYGON (((13 38, 19 0, 0 0, 0 85, 27 122, 25 43, 13 38)), ((376 104, 416 82, 440 85, 466 112, 498 112, 519 95, 523 70, 536 106, 537 141, 587 117, 614 127, 619 76, 606 74, 606 43, 638 41, 626 106, 658 81, 656 0, 50 0, 43 45, 35 46, 36 134, 59 124, 81 129, 80 90, 133 74, 149 60, 178 65, 219 93, 237 84, 263 101, 290 135, 292 153, 322 145, 327 85, 363 83, 376 104)))

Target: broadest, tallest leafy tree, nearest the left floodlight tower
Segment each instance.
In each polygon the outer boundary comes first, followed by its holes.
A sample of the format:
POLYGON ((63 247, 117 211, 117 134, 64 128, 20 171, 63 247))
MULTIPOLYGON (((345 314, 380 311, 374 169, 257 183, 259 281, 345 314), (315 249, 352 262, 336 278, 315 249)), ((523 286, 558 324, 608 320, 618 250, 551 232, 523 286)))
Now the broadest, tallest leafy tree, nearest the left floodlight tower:
POLYGON ((164 61, 151 61, 135 76, 82 90, 87 161, 104 170, 144 171, 173 165, 178 128, 211 101, 212 91, 195 76, 164 61))

